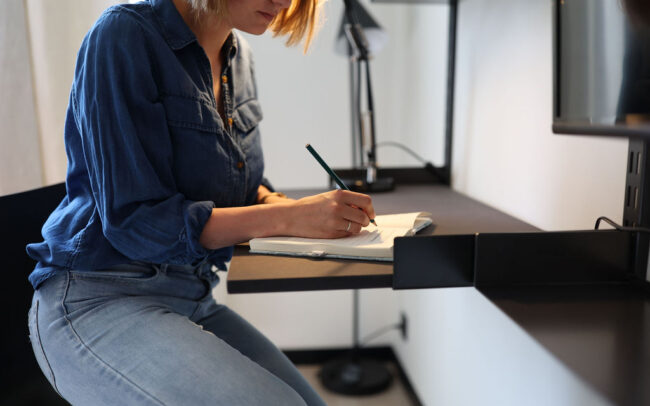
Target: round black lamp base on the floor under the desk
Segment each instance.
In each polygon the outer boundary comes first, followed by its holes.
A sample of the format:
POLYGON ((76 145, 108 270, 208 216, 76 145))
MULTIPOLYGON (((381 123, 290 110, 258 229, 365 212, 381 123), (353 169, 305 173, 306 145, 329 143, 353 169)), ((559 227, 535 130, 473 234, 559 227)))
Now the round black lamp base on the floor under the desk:
POLYGON ((393 377, 384 364, 356 357, 326 363, 318 373, 321 383, 344 395, 372 395, 386 390, 393 377))

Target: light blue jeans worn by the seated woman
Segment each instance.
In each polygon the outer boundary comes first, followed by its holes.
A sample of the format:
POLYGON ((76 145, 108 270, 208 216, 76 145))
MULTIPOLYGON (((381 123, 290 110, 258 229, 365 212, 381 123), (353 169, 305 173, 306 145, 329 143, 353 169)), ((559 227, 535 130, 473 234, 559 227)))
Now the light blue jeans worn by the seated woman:
POLYGON ((206 266, 58 272, 29 330, 54 389, 75 405, 324 405, 295 366, 212 297, 206 266))

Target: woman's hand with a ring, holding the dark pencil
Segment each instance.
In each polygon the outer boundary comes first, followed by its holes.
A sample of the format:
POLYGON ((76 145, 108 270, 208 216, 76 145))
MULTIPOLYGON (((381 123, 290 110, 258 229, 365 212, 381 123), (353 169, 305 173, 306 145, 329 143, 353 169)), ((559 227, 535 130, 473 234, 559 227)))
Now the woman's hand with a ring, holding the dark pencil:
POLYGON ((288 202, 286 235, 308 238, 340 238, 356 234, 375 218, 370 196, 348 190, 332 190, 288 202))

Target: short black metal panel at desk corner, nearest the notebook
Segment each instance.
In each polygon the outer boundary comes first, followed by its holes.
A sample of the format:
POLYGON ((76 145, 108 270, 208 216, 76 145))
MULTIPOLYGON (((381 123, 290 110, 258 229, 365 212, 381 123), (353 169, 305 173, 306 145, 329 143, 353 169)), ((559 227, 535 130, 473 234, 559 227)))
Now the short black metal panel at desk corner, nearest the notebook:
POLYGON ((393 289, 473 285, 474 235, 395 239, 393 289))

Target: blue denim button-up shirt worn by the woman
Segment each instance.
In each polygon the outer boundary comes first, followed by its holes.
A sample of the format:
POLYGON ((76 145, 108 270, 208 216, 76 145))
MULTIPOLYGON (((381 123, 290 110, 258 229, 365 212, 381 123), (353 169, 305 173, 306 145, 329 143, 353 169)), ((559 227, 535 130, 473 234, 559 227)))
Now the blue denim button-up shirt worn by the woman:
POLYGON ((102 14, 70 94, 67 196, 27 246, 34 288, 59 270, 133 261, 225 269, 232 247, 198 241, 212 209, 254 204, 268 184, 250 49, 233 33, 224 51, 225 123, 210 62, 171 0, 102 14))

